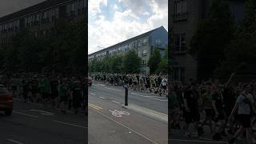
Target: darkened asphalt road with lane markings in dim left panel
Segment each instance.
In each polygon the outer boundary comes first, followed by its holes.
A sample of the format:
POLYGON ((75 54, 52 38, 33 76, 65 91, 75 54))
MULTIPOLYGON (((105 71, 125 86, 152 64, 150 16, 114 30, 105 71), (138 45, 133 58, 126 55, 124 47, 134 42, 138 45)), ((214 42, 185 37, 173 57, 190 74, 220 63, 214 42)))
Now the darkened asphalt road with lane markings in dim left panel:
POLYGON ((84 114, 51 110, 40 104, 14 100, 11 116, 0 113, 0 144, 85 144, 84 114))

